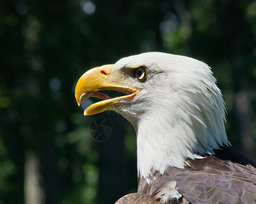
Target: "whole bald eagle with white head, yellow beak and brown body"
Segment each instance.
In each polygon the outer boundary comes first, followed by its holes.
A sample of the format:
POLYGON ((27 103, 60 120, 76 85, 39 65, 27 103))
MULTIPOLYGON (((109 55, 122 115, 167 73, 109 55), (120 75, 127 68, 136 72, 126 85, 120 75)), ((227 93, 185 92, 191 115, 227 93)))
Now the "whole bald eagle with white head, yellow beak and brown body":
POLYGON ((84 115, 113 110, 137 133, 138 190, 117 203, 256 203, 256 164, 231 147, 225 102, 208 65, 147 52, 84 73, 84 115), (111 98, 98 90, 124 93, 111 98))

